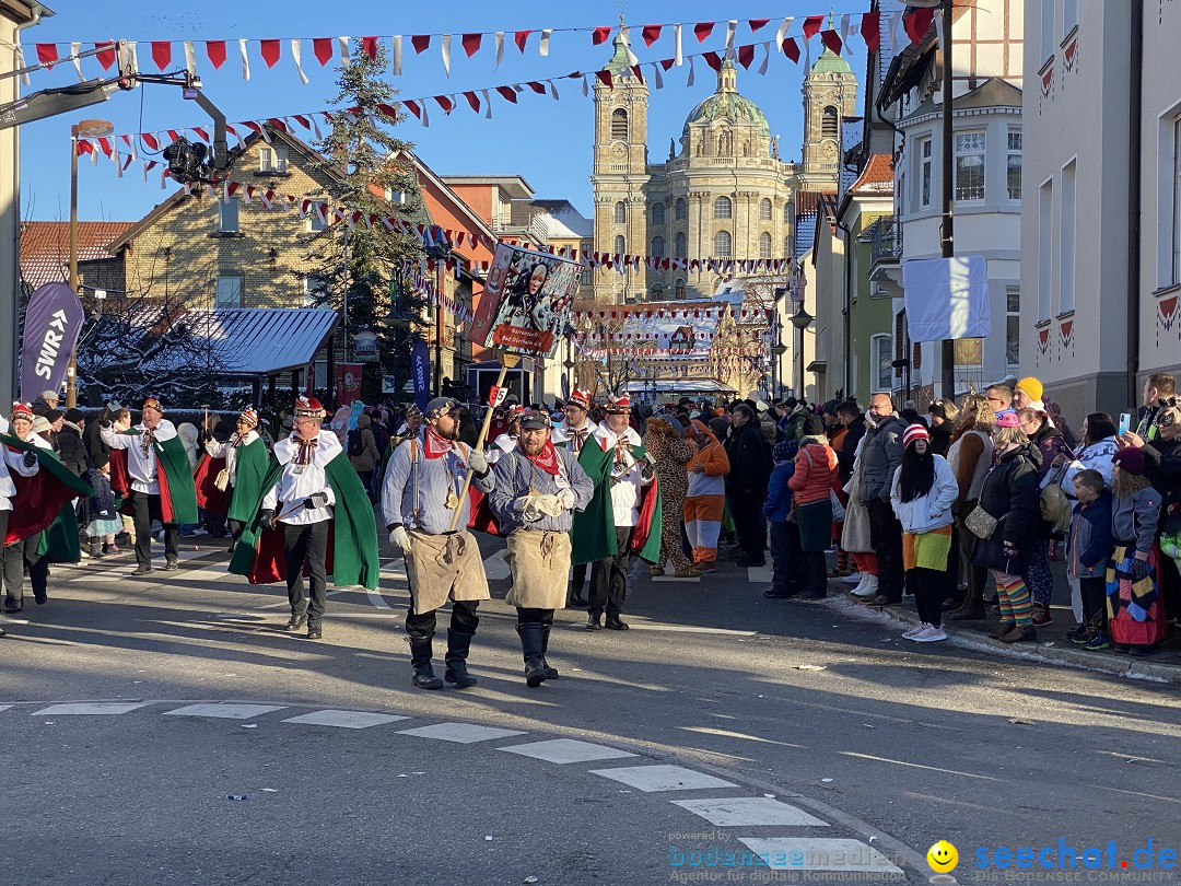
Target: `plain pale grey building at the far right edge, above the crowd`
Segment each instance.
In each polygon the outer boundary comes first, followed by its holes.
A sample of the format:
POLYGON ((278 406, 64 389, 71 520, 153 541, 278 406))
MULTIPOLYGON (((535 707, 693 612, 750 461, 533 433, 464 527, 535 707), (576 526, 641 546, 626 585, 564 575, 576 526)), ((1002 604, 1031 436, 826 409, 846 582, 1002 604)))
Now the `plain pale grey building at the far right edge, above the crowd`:
POLYGON ((1181 369, 1181 6, 1027 0, 1025 33, 1022 372, 1077 425, 1181 369))

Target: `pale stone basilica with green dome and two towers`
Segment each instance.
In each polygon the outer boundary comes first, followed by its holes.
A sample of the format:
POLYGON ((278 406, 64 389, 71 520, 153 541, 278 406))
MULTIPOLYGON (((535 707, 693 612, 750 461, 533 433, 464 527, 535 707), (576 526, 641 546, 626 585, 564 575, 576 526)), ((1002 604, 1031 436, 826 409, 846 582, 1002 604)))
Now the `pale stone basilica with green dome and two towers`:
MULTIPOLYGON (((766 116, 738 92, 732 59, 717 91, 693 108, 664 163, 648 162, 648 87, 632 76, 616 35, 607 67, 613 85, 594 85, 594 249, 654 259, 787 259, 792 255, 795 195, 835 193, 842 122, 856 110, 856 78, 826 50, 804 78, 802 159, 785 162, 766 116)), ((596 302, 709 298, 712 271, 599 271, 596 302)))

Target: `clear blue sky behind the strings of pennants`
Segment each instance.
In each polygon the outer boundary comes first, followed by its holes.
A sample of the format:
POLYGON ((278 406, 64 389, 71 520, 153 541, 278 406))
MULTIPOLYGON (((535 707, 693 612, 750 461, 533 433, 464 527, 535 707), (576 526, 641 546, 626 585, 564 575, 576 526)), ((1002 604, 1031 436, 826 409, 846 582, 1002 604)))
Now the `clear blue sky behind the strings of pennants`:
MULTIPOLYGON (((468 2, 452 0, 438 4, 377 5, 305 2, 286 4, 229 2, 209 0, 201 11, 194 5, 162 2, 161 0, 124 0, 111 2, 80 2, 80 0, 48 0, 56 15, 40 26, 25 32, 26 56, 35 59, 35 43, 80 41, 84 48, 102 40, 128 39, 139 41, 141 69, 156 72, 150 60, 151 40, 220 40, 228 44, 228 59, 220 71, 214 71, 202 45, 196 46, 197 70, 204 82, 205 95, 218 105, 230 122, 289 116, 328 109, 327 99, 335 92, 332 66, 320 67, 312 53, 311 38, 348 35, 403 34, 405 38, 403 76, 392 78, 403 98, 418 98, 464 90, 520 83, 566 74, 573 71, 593 71, 602 67, 611 56, 611 46, 592 46, 589 33, 555 33, 548 58, 537 53, 537 34, 529 37, 522 56, 511 44, 511 32, 544 27, 595 27, 614 25, 619 20, 618 2, 544 4, 526 0, 513 5, 468 2), (397 13, 394 13, 397 8, 397 13), (459 46, 465 32, 505 32, 504 61, 494 70, 495 53, 491 38, 472 58, 466 58, 459 46), (452 63, 450 78, 445 74, 439 53, 439 40, 416 56, 410 46, 411 34, 452 33, 452 63), (311 83, 300 83, 287 40, 305 38, 302 66, 311 83), (249 44, 250 79, 241 77, 236 40, 279 39, 282 57, 273 70, 267 70, 259 44, 249 44)), ((860 13, 866 2, 836 6, 842 12, 860 13)), ((712 35, 698 44, 691 28, 684 31, 686 53, 722 51, 725 45, 725 21, 738 19, 736 44, 774 40, 775 30, 787 15, 796 17, 791 34, 800 34, 804 15, 828 12, 826 4, 811 0, 771 2, 770 0, 733 0, 732 2, 668 2, 667 0, 628 0, 627 20, 633 25, 632 44, 642 61, 671 58, 672 31, 667 28, 651 47, 640 39, 640 26, 655 22, 719 21, 712 35), (751 35, 749 19, 771 19, 771 24, 751 35)), ((856 19, 855 19, 856 20, 856 19)), ((389 41, 385 40, 389 48, 389 41)), ((864 76, 864 45, 853 41, 854 52, 847 56, 859 79, 864 76)), ((813 58, 822 48, 818 38, 813 41, 813 58)), ((63 48, 63 54, 65 50, 63 48)), ((766 113, 772 135, 782 136, 781 151, 788 159, 798 158, 802 105, 800 87, 803 79, 803 59, 795 65, 782 54, 772 52, 768 73, 756 73, 762 63, 762 48, 756 53, 749 72, 739 70, 739 91, 755 100, 766 113)), ((172 46, 172 67, 183 66, 183 47, 172 46)), ((102 74, 93 59, 84 59, 83 73, 102 74)), ((679 137, 685 116, 710 95, 716 76, 700 59, 694 63, 696 85, 686 87, 689 67, 673 67, 665 74, 663 90, 652 90, 648 115, 648 146, 653 162, 667 156, 668 139, 679 137)), ((651 67, 645 69, 651 82, 651 67)), ((60 64, 52 71, 32 76, 26 93, 47 86, 77 83, 72 64, 60 64)), ((557 85, 560 100, 526 92, 516 105, 494 96, 492 119, 471 112, 459 98, 459 106, 448 117, 431 104, 430 128, 413 118, 402 124, 398 135, 416 145, 418 155, 442 175, 520 175, 533 185, 539 197, 567 198, 585 215, 592 213, 590 145, 593 139, 593 104, 582 98, 578 80, 557 85)), ((87 117, 105 118, 115 123, 117 132, 141 132, 161 129, 208 125, 200 108, 181 98, 180 90, 170 86, 142 86, 131 92, 116 93, 111 100, 71 115, 28 124, 21 130, 21 214, 26 219, 64 220, 68 217, 70 200, 70 125, 87 117), (142 122, 141 122, 142 120, 142 122)), ((301 132, 296 132, 302 135, 301 132)), ((234 139, 230 139, 231 145, 234 139)), ((171 187, 171 185, 170 185, 171 187)), ((131 221, 139 219, 170 191, 161 190, 157 175, 143 181, 142 168, 133 164, 120 180, 115 165, 102 157, 98 165, 83 158, 79 167, 79 217, 84 221, 131 221)))

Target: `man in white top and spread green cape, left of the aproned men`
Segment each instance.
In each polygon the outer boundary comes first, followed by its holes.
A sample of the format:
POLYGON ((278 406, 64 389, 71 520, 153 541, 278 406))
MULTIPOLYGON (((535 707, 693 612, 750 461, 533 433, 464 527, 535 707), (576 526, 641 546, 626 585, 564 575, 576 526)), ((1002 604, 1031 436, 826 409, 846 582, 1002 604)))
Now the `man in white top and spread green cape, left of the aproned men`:
POLYGON ((379 568, 368 496, 337 435, 322 426, 324 417, 318 399, 301 396, 295 402, 294 430, 275 443, 260 486, 262 501, 255 502, 256 514, 229 563, 252 585, 286 581, 291 618, 283 630, 306 624, 309 640, 324 636, 328 574, 338 587, 373 589, 379 568))

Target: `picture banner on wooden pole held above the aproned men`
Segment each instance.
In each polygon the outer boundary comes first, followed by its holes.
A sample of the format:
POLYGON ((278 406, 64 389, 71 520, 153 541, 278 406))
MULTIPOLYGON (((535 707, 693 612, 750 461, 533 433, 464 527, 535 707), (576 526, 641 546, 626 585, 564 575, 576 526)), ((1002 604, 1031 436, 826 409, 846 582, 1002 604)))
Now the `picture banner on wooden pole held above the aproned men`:
POLYGON ((484 347, 553 357, 569 323, 582 266, 556 255, 498 243, 471 324, 484 347))

